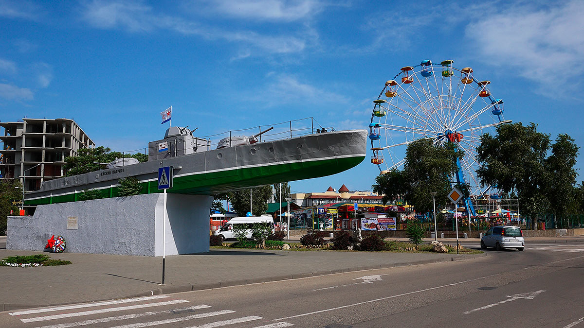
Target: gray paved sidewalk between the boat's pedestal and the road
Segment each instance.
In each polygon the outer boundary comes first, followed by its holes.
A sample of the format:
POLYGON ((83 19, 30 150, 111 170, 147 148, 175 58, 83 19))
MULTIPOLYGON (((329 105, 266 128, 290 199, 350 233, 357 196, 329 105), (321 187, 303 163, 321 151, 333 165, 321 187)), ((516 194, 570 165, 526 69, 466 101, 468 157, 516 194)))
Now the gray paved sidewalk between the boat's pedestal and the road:
MULTIPOLYGON (((6 250, 0 259, 41 252, 6 250)), ((99 301, 253 282, 279 281, 346 271, 436 263, 485 256, 456 254, 318 252, 212 249, 210 253, 166 257, 105 254, 49 254, 72 264, 55 267, 0 267, 0 311, 99 301)))

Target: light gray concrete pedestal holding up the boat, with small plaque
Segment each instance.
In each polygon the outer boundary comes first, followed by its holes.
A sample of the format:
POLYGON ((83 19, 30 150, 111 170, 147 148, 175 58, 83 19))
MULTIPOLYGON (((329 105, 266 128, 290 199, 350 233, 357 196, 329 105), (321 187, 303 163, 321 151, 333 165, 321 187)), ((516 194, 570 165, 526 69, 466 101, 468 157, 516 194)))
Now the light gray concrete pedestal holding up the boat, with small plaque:
MULTIPOLYGON (((213 197, 167 197, 166 255, 208 252, 213 197)), ((41 251, 61 235, 65 252, 162 256, 163 208, 163 194, 40 205, 33 217, 8 217, 6 249, 41 251), (67 229, 68 217, 78 229, 67 229)))

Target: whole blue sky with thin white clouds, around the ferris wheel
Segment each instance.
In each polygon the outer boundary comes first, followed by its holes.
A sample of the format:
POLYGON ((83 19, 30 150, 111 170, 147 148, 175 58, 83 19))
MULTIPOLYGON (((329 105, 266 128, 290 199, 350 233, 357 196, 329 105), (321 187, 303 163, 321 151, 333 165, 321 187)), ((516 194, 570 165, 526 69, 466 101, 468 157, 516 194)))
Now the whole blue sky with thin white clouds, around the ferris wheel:
MULTIPOLYGON (((366 128, 399 68, 454 60, 491 81, 505 118, 584 145, 584 2, 0 0, 0 120, 74 118, 117 151, 315 117, 366 128)), ((577 167, 582 169, 582 160, 577 167)), ((370 189, 369 157, 293 191, 370 189)))

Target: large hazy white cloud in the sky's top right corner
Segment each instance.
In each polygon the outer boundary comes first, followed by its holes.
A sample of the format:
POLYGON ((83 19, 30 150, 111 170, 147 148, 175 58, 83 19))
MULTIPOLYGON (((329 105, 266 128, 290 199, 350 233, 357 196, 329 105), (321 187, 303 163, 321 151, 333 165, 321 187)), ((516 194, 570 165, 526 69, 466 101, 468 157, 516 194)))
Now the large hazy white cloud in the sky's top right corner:
POLYGON ((564 84, 584 72, 584 2, 550 4, 508 6, 467 25, 465 36, 481 60, 545 85, 564 84))

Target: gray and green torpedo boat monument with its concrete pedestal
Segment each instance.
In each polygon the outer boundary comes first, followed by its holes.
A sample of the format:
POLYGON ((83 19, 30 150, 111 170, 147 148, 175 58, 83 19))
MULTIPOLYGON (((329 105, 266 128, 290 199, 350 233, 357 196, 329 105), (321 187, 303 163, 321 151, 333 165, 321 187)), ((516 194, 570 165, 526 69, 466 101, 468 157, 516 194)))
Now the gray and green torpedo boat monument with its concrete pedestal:
POLYGON ((187 127, 169 127, 148 144, 147 162, 117 159, 105 170, 44 182, 25 196, 26 205, 37 205, 32 217, 8 217, 6 248, 41 250, 51 235, 61 235, 67 252, 162 256, 163 239, 166 255, 208 252, 214 193, 333 175, 366 155, 366 130, 260 141, 269 130, 230 135, 211 149, 209 139, 187 127), (164 215, 158 169, 166 166, 173 182, 164 215), (117 197, 124 177, 135 177, 141 194, 117 197), (89 189, 105 198, 79 201, 89 189))

